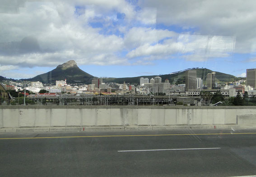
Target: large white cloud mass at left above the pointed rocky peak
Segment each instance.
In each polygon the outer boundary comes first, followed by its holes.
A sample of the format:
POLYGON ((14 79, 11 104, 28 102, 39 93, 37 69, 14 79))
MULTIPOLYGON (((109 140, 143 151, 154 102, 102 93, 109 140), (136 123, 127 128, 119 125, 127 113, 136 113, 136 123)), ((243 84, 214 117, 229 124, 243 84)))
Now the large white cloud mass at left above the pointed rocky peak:
MULTIPOLYGON (((107 5, 109 8, 110 4, 112 3, 107 5)), ((117 8, 120 3, 115 1, 113 4, 117 8)), ((0 64, 19 67, 56 66, 70 59, 81 64, 124 64, 125 61, 121 62, 121 59, 113 55, 123 48, 122 38, 99 34, 99 29, 94 29, 87 21, 83 21, 94 15, 93 10, 95 8, 89 12, 86 10, 82 17, 76 17, 74 5, 56 1, 55 4, 27 2, 18 14, 4 13, 0 16, 0 24, 4 24, 1 33, 5 37, 0 39, 0 47, 9 53, 0 53, 0 64), (19 53, 22 44, 20 41, 28 35, 34 36, 40 51, 19 53), (95 60, 99 54, 106 56, 101 62, 95 60)))

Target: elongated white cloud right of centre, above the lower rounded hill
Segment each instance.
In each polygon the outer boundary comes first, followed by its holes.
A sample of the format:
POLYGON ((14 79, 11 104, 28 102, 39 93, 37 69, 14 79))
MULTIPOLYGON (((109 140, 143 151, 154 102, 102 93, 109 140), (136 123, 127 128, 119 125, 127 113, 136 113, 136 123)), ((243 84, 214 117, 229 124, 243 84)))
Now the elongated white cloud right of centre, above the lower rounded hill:
MULTIPOLYGON (((135 44, 140 44, 136 49, 127 53, 127 57, 147 57, 148 60, 172 58, 175 53, 179 57, 186 58, 190 61, 206 61, 209 58, 230 57, 233 54, 235 38, 232 36, 207 36, 207 35, 179 35, 177 41, 175 38, 165 39, 168 35, 164 35, 167 31, 155 31, 163 39, 163 44, 153 44, 158 41, 153 37, 149 37, 148 43, 141 42, 139 35, 134 37, 135 44)), ((169 36, 175 36, 175 33, 168 31, 169 36)), ((135 33, 136 34, 136 33, 135 33)), ((133 39, 133 38, 130 38, 133 39)), ((144 38, 142 38, 144 39, 144 38)))

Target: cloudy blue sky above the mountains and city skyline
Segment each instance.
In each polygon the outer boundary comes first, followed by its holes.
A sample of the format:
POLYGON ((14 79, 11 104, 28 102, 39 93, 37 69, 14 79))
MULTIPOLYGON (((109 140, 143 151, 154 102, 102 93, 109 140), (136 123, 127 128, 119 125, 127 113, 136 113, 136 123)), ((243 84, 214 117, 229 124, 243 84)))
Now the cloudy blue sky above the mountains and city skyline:
POLYGON ((74 60, 97 77, 256 68, 255 0, 1 0, 0 75, 74 60))

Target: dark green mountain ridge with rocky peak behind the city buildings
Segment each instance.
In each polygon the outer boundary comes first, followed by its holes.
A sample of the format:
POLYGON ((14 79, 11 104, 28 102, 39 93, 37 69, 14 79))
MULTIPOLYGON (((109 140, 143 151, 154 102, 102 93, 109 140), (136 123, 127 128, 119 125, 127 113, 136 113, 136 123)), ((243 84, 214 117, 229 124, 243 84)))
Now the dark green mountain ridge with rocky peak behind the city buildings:
MULTIPOLYGON (((162 81, 168 79, 171 84, 185 84, 185 75, 186 71, 188 70, 196 70, 197 78, 201 78, 204 82, 206 81, 206 77, 208 73, 213 72, 212 70, 206 68, 188 68, 186 70, 172 72, 166 75, 160 75, 162 81)), ((215 72, 215 80, 217 83, 224 83, 224 82, 231 82, 238 80, 239 78, 225 74, 222 72, 214 71, 215 72)), ((142 75, 137 77, 124 77, 124 78, 104 78, 103 82, 116 82, 122 84, 123 82, 126 83, 133 83, 133 84, 140 84, 140 78, 154 78, 159 75, 142 75)), ((91 80, 94 78, 93 75, 88 74, 87 72, 81 70, 74 60, 70 60, 65 62, 61 65, 58 65, 54 70, 49 71, 47 73, 37 75, 30 79, 23 79, 27 81, 40 81, 44 84, 51 84, 55 83, 56 80, 65 80, 67 79, 68 83, 84 83, 84 84, 91 84, 91 80)), ((13 80, 7 79, 5 77, 0 76, 1 80, 13 80)), ((14 80, 13 80, 14 81, 14 80)))

